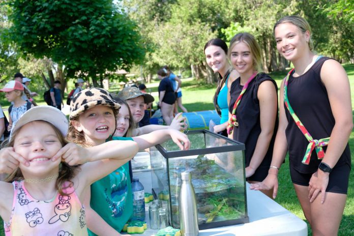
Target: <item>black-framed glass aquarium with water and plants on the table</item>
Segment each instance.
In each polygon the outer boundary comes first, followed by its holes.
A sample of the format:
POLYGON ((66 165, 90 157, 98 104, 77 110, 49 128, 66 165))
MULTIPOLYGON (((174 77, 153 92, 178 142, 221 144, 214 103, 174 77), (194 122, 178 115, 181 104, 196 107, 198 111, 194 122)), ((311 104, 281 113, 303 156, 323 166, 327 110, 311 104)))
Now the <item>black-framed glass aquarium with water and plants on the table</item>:
POLYGON ((172 141, 150 149, 152 191, 168 205, 170 224, 179 228, 181 172, 190 171, 199 229, 248 223, 243 143, 208 130, 187 133, 189 150, 172 141))

